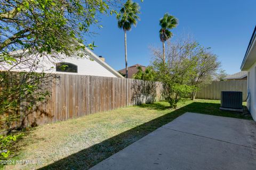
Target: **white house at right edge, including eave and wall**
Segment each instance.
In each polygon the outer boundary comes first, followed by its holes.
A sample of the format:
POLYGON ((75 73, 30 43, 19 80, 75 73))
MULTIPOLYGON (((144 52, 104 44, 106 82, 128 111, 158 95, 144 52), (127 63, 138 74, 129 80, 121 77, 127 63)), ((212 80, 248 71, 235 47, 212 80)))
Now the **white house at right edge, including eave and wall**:
POLYGON ((244 60, 241 65, 242 71, 247 71, 247 107, 256 121, 256 27, 246 50, 244 60))

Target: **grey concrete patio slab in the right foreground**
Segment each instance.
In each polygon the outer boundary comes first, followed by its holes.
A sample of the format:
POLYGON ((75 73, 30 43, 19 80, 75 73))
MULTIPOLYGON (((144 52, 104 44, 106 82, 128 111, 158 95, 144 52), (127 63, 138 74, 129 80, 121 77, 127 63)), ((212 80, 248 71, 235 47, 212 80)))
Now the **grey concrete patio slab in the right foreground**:
POLYGON ((256 123, 186 113, 92 167, 256 169, 256 123))

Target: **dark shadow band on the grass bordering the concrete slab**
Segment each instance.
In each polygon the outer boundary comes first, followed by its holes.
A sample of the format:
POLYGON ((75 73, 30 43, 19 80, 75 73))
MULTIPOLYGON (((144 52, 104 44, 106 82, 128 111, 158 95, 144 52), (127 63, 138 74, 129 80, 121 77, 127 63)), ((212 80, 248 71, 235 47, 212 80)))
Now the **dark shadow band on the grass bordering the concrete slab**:
MULTIPOLYGON (((161 104, 140 105, 139 107, 149 109, 167 109, 166 106, 161 106, 161 104)), ((186 112, 251 119, 251 117, 245 117, 239 113, 220 111, 219 107, 220 104, 199 102, 191 103, 174 111, 170 111, 170 113, 157 117, 152 121, 118 134, 101 143, 97 143, 89 148, 81 150, 66 158, 60 159, 50 165, 46 165, 40 169, 89 169, 186 112)))

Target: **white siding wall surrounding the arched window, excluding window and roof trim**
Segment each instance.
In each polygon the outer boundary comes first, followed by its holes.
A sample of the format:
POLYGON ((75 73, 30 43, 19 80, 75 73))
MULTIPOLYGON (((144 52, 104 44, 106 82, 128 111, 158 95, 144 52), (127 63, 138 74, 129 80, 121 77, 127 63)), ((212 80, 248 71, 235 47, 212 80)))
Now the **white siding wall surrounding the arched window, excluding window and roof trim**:
POLYGON ((9 71, 30 71, 29 67, 32 67, 33 62, 38 62, 36 64, 36 69, 33 67, 33 72, 45 72, 45 73, 58 73, 58 74, 78 74, 78 75, 94 75, 100 77, 117 77, 117 75, 113 72, 113 69, 105 64, 102 64, 101 61, 95 60, 95 57, 92 56, 95 54, 90 54, 90 52, 86 52, 87 54, 83 55, 83 57, 74 55, 71 57, 67 57, 62 54, 58 54, 57 58, 51 57, 49 55, 43 55, 38 57, 36 55, 29 55, 26 58, 23 57, 23 60, 27 60, 28 62, 22 62, 23 64, 18 64, 17 66, 11 68, 11 65, 5 65, 0 67, 0 70, 9 70, 9 71), (35 59, 36 58, 36 59, 35 59), (55 63, 67 62, 77 65, 77 73, 69 73, 69 72, 57 72, 55 63), (24 64, 27 63, 27 64, 24 64), (111 71, 112 69, 112 71, 111 71))

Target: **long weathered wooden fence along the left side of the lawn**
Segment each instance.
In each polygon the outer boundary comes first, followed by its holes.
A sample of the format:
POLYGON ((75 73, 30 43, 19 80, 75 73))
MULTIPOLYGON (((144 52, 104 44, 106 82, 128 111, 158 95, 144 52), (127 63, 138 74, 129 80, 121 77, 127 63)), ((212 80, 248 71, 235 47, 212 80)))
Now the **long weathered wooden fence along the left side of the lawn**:
POLYGON ((69 118, 81 117, 116 108, 153 103, 162 99, 162 84, 134 79, 57 74, 50 78, 45 90, 50 98, 26 111, 22 101, 19 112, 23 115, 13 126, 37 126, 69 118))

